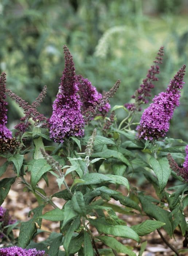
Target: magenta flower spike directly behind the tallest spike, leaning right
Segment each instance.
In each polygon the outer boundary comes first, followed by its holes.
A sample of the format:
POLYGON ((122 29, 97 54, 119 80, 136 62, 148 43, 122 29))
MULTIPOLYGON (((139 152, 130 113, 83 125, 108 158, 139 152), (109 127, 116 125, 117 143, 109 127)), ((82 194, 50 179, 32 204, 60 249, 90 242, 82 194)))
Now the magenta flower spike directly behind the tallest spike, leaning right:
MULTIPOLYGON (((94 106, 95 103, 102 99, 102 94, 98 93, 97 89, 91 84, 87 78, 83 78, 81 75, 76 76, 77 86, 79 89, 79 95, 82 102, 82 112, 86 111, 90 106, 94 106)), ((110 104, 106 102, 105 106, 99 109, 103 115, 110 110, 110 104)))

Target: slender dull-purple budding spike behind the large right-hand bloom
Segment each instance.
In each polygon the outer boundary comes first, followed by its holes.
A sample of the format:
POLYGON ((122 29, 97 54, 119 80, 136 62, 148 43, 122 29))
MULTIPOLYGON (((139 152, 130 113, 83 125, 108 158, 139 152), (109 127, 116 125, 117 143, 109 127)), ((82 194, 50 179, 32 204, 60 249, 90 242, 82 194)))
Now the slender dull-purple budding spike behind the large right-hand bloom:
POLYGON ((146 97, 151 96, 150 91, 154 88, 153 82, 158 81, 158 78, 155 75, 160 73, 158 64, 162 64, 162 56, 164 56, 163 46, 160 47, 157 57, 155 58, 156 60, 153 61, 155 65, 152 65, 148 70, 148 74, 146 75, 146 78, 142 80, 140 88, 138 88, 132 96, 132 98, 135 99, 135 103, 126 103, 124 105, 128 110, 141 111, 142 108, 140 108, 140 105, 148 103, 148 99, 146 99, 146 97))

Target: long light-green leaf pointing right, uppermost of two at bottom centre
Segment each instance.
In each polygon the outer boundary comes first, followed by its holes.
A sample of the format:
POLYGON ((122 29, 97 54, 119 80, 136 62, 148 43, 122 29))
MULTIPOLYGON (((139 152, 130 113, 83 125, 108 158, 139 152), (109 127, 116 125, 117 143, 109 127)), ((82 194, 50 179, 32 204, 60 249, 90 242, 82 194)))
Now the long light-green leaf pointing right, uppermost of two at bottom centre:
POLYGON ((104 233, 113 236, 126 237, 140 242, 138 234, 128 226, 109 225, 104 219, 89 219, 91 225, 96 227, 99 233, 104 233))

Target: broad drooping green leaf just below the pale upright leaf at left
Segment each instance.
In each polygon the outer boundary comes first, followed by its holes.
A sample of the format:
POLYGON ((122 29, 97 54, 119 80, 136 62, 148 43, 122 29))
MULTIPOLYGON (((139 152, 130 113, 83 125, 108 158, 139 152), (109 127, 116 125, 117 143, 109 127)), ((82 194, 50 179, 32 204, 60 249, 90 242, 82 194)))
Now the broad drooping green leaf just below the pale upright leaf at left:
POLYGON ((31 186, 34 189, 34 191, 40 178, 43 176, 44 173, 48 172, 50 169, 51 166, 48 165, 46 159, 40 158, 34 162, 34 165, 31 169, 31 186))

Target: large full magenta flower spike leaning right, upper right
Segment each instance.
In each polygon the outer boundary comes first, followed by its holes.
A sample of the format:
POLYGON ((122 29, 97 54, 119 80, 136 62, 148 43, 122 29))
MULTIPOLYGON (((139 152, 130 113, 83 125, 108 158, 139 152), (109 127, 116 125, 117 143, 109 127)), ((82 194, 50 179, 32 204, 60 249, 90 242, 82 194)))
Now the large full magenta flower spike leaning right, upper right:
POLYGON ((180 102, 180 90, 183 88, 185 65, 173 77, 165 92, 153 98, 153 103, 142 114, 140 125, 137 126, 138 138, 154 140, 164 137, 169 129, 173 112, 180 102))

